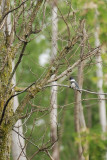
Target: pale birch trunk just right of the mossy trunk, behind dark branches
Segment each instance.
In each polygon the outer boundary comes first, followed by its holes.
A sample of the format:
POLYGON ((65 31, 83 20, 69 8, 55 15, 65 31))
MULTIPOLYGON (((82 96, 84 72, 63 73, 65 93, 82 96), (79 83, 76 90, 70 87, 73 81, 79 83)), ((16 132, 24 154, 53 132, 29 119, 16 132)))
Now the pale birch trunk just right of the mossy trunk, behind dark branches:
MULTIPOLYGON (((12 68, 14 68, 14 61, 12 63, 12 68)), ((12 84, 16 85, 16 75, 12 79, 12 84)), ((13 111, 17 109, 19 103, 18 98, 14 97, 13 99, 13 111)), ((22 121, 19 119, 14 127, 14 130, 23 136, 23 126, 22 121)), ((12 158, 13 160, 26 160, 26 151, 25 151, 25 141, 24 139, 18 135, 15 131, 12 131, 12 158)))

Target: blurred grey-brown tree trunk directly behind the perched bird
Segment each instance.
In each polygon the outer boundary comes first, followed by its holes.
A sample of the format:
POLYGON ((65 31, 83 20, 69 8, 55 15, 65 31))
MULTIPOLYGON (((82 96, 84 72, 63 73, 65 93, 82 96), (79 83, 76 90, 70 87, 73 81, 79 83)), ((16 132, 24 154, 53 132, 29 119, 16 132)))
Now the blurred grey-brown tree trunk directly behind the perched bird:
MULTIPOLYGON (((86 43, 86 30, 85 30, 85 22, 81 23, 81 30, 82 30, 82 39, 81 39, 81 53, 80 57, 85 54, 85 43, 86 43)), ((84 69, 84 61, 80 62, 78 66, 78 85, 82 88, 83 85, 83 69, 84 69)), ((85 117, 83 112, 83 107, 81 104, 81 96, 82 93, 75 91, 75 129, 78 133, 78 138, 80 142, 78 143, 78 159, 79 160, 89 160, 88 155, 88 143, 87 140, 81 140, 81 133, 87 133, 85 117), (85 156, 84 156, 85 155, 85 156)))

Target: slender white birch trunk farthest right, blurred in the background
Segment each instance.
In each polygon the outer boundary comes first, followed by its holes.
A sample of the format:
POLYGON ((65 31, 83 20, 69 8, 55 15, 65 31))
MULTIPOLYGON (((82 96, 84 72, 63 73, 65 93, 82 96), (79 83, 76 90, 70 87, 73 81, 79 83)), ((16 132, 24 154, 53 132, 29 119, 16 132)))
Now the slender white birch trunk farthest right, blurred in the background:
MULTIPOLYGON (((98 10, 96 8, 95 10, 95 46, 98 47, 100 45, 100 39, 99 39, 99 24, 98 24, 98 10)), ((102 58, 101 58, 101 53, 96 57, 96 66, 97 66, 97 87, 98 87, 98 92, 103 93, 103 69, 102 69, 102 58)), ((100 99, 105 99, 105 95, 99 95, 100 99)), ((100 100, 99 101, 99 115, 100 115, 100 124, 102 128, 102 132, 106 132, 106 103, 105 100, 100 100)))

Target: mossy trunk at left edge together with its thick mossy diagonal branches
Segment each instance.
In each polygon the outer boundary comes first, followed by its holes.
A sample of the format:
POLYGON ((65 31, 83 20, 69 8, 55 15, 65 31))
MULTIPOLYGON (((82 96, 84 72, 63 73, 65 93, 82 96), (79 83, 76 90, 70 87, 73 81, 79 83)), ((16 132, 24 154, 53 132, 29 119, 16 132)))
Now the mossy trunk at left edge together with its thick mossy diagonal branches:
MULTIPOLYGON (((2 21, 3 15, 9 11, 10 0, 0 1, 0 22, 2 21)), ((37 4, 34 7, 32 12, 29 25, 26 28, 27 35, 23 35, 25 39, 29 37, 32 32, 32 23, 35 20, 35 16, 42 4, 43 0, 37 1, 37 4)), ((7 17, 5 17, 5 22, 7 21, 7 17)), ((11 36, 9 34, 8 25, 4 27, 5 23, 0 23, 0 119, 3 113, 3 108, 7 102, 7 100, 13 95, 12 91, 12 59, 16 53, 17 47, 12 47, 11 36), (1 25, 3 24, 3 25, 1 25)), ((11 24, 10 24, 11 25, 11 24)), ((23 43, 22 43, 23 44, 23 43)), ((18 45, 19 46, 19 45, 18 45)), ((22 55, 23 53, 21 53, 22 55)), ((21 56, 20 55, 20 56, 21 56)), ((19 59, 20 60, 20 59, 19 59)), ((19 61, 20 62, 20 61, 19 61)), ((19 63, 18 63, 19 64, 19 63)), ((17 67, 16 67, 17 68, 17 67)), ((48 75, 47 75, 48 76, 48 75)), ((46 79, 47 80, 47 79, 46 79)), ((43 82, 44 83, 44 82, 43 82)), ((46 83, 46 82, 45 82, 46 83)), ((20 111, 23 110, 26 103, 33 98, 38 89, 29 93, 25 99, 21 102, 16 112, 13 114, 13 102, 12 100, 9 101, 8 105, 6 106, 6 111, 3 116, 2 123, 0 125, 0 160, 9 160, 10 159, 10 145, 11 145, 11 130, 12 126, 16 123, 19 119, 20 111), (34 93, 34 94, 33 94, 34 93), (21 109, 22 108, 22 109, 21 109)))

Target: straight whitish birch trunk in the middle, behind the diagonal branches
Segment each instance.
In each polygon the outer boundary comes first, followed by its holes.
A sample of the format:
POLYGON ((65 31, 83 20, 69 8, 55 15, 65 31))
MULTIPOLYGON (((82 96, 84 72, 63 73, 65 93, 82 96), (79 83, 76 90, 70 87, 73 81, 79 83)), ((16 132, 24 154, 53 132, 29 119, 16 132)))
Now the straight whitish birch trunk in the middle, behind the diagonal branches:
MULTIPOLYGON (((54 61, 54 58, 57 54, 57 7, 53 3, 52 6, 52 55, 51 60, 54 61)), ((55 77, 55 74, 52 78, 55 77)), ((57 82, 53 82, 52 85, 57 85, 57 82)), ((53 86, 51 89, 51 139, 54 143, 52 148, 52 158, 54 160, 59 160, 59 147, 57 141, 57 86, 53 86)))

